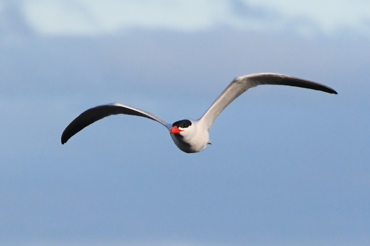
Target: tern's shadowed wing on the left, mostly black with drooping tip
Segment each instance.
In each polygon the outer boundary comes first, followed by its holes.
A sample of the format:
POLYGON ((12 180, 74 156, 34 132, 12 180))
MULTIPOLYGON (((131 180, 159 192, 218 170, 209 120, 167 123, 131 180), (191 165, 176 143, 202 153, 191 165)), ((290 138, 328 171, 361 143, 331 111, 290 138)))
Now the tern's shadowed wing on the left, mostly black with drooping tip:
POLYGON ((81 131, 88 125, 94 123, 95 121, 98 121, 99 119, 102 119, 104 117, 107 117, 109 115, 114 114, 128 114, 128 115, 136 115, 145 117, 148 119, 152 119, 154 121, 158 121, 162 125, 164 125, 168 130, 171 129, 172 125, 165 122, 163 119, 155 116, 154 114, 151 114, 149 112, 146 112, 144 110, 139 110, 138 108, 133 108, 127 105, 123 105, 120 103, 112 103, 107 105, 101 105, 94 108, 90 108, 80 114, 77 118, 75 118, 67 128, 65 128, 61 142, 62 144, 66 143, 68 139, 70 139, 73 135, 75 135, 77 132, 81 131))

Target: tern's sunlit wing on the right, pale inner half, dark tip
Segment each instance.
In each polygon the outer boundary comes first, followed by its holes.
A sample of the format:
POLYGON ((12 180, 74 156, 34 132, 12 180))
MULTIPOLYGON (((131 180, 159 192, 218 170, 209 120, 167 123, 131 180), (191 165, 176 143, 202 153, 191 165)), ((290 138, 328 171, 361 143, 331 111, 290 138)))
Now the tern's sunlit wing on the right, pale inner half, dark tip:
POLYGON ((307 89, 320 90, 327 93, 337 94, 332 88, 305 79, 277 73, 256 73, 235 78, 221 95, 214 101, 199 121, 202 121, 207 129, 211 129, 219 114, 233 101, 249 88, 260 84, 278 84, 285 86, 297 86, 307 89))

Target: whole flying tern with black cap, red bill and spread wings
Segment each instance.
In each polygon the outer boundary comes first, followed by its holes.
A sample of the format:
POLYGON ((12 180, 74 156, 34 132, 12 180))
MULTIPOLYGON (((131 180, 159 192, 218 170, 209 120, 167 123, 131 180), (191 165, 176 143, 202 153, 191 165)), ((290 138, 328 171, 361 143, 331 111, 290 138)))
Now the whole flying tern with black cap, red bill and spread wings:
POLYGON ((173 124, 168 124, 154 114, 138 108, 120 103, 106 104, 90 108, 75 118, 65 128, 61 142, 64 144, 77 132, 99 119, 114 114, 128 114, 152 119, 164 125, 169 130, 172 140, 180 150, 186 153, 200 152, 206 148, 207 144, 211 144, 208 131, 211 129, 218 115, 244 91, 260 84, 296 86, 337 94, 332 88, 309 80, 276 73, 256 73, 236 77, 199 119, 182 119, 173 124))

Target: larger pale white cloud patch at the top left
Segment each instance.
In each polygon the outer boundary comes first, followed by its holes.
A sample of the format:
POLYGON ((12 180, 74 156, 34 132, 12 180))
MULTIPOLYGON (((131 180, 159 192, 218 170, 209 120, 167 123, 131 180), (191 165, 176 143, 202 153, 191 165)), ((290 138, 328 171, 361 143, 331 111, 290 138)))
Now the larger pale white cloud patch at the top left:
POLYGON ((44 34, 88 35, 132 27, 192 31, 221 22, 228 15, 228 4, 224 0, 29 0, 24 13, 29 24, 44 34))

